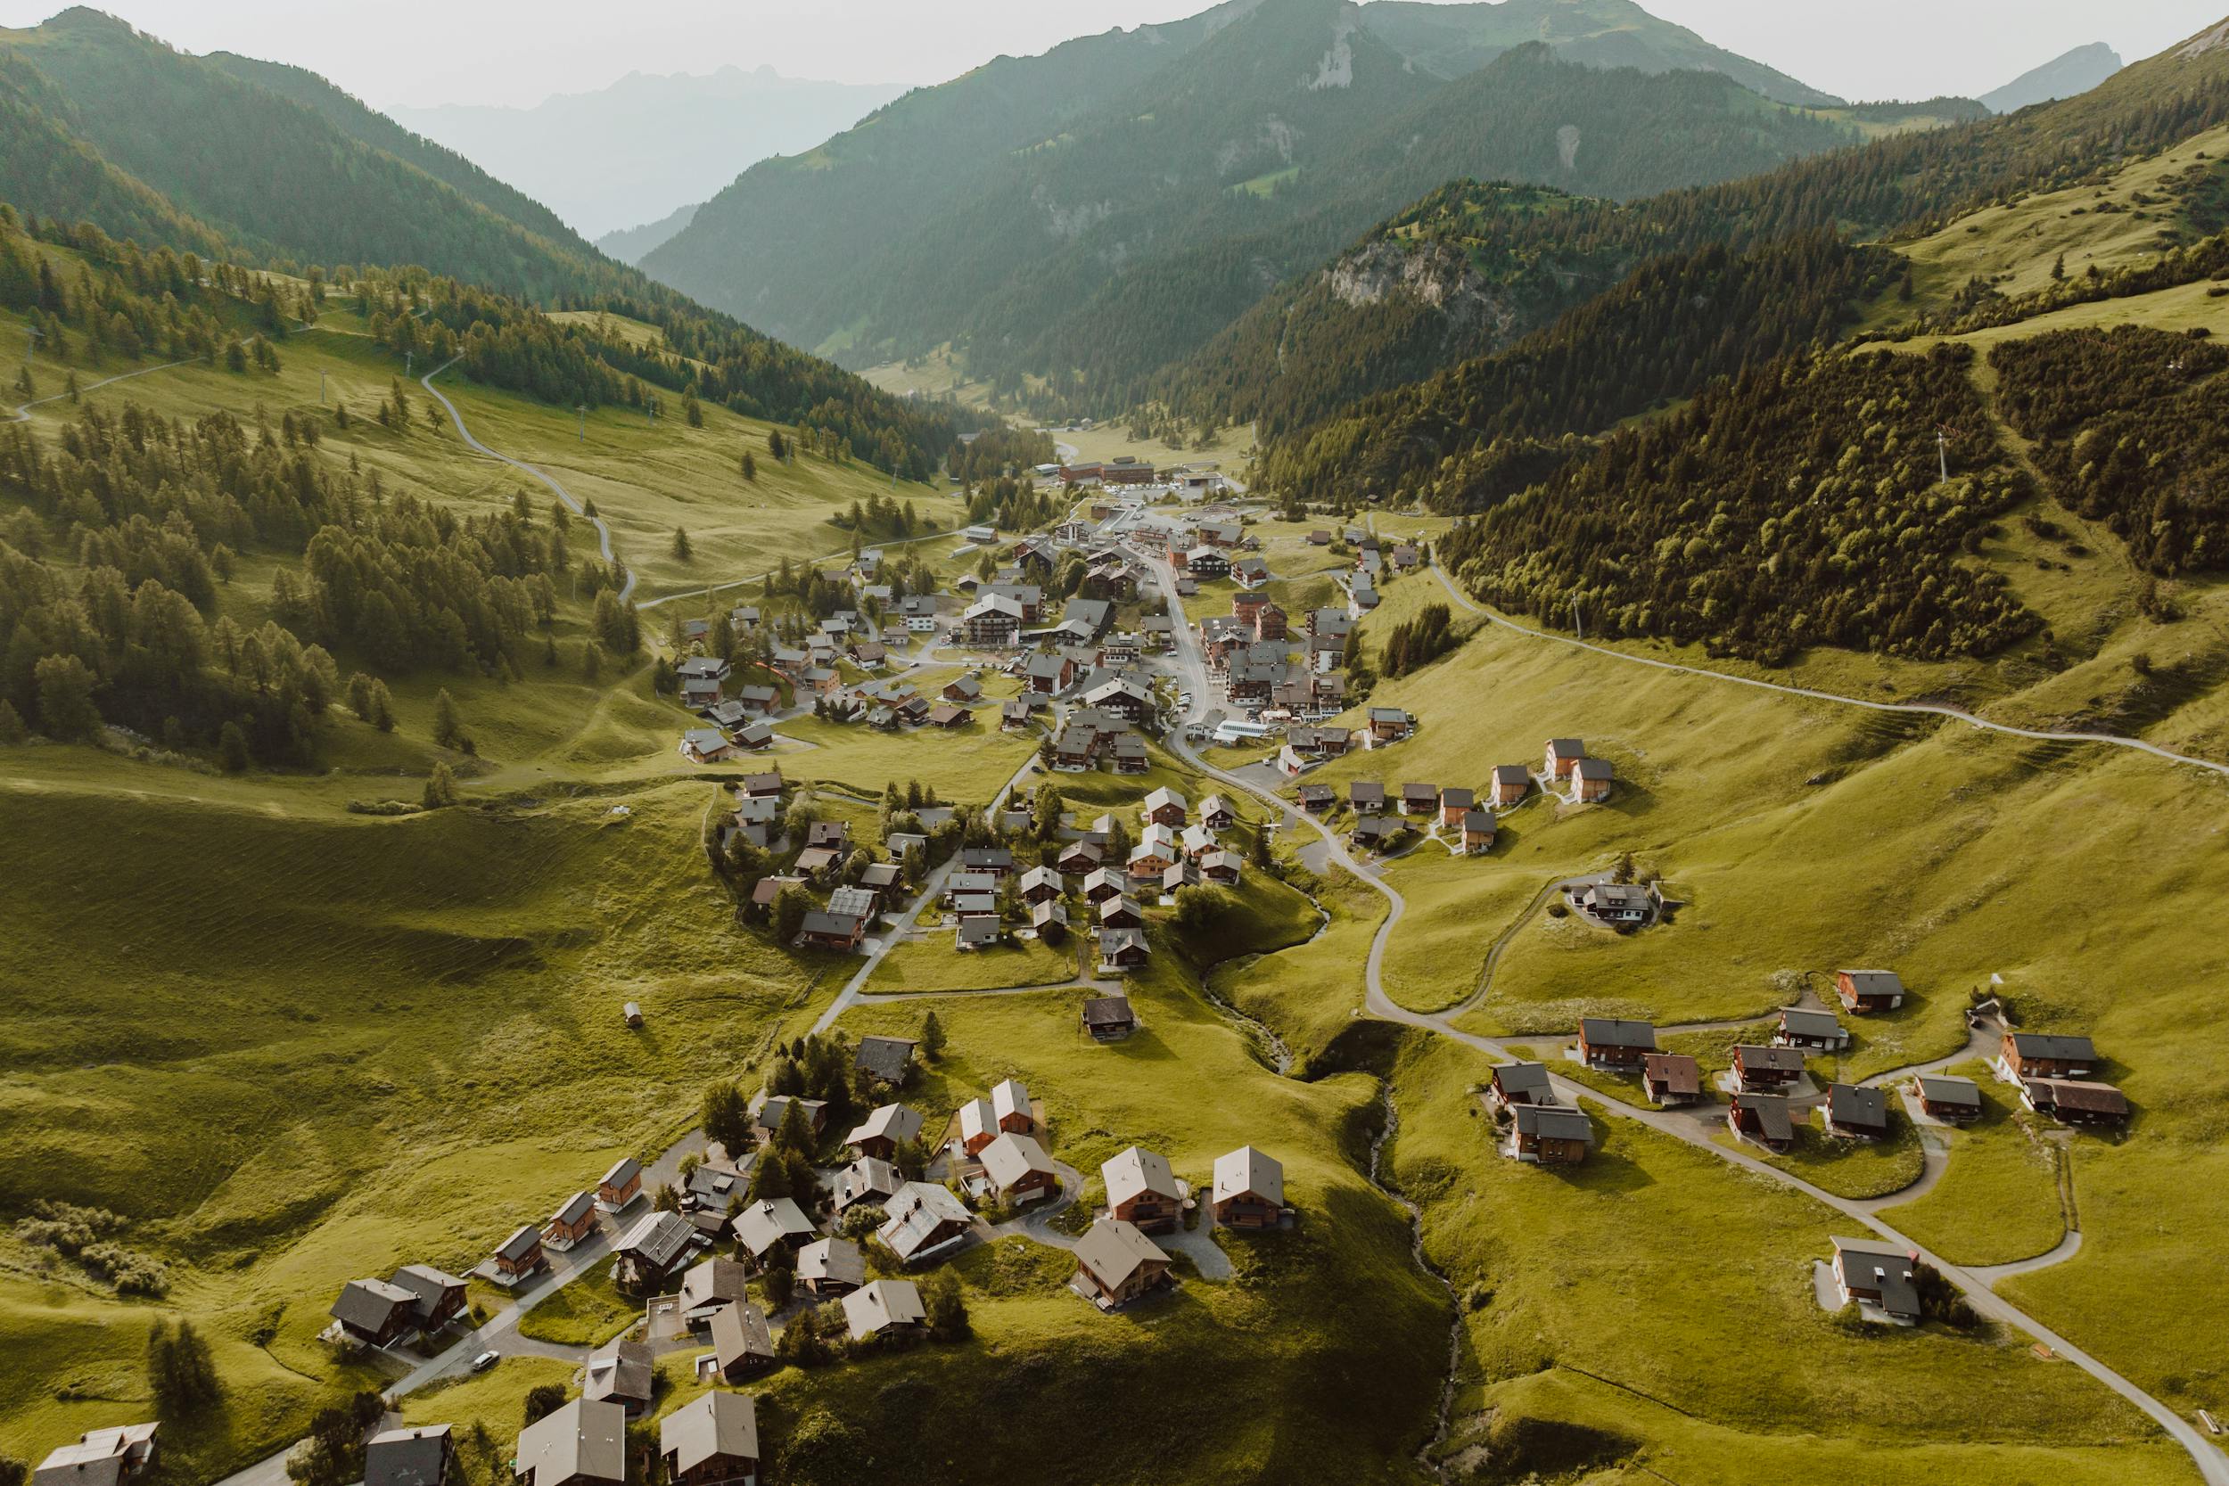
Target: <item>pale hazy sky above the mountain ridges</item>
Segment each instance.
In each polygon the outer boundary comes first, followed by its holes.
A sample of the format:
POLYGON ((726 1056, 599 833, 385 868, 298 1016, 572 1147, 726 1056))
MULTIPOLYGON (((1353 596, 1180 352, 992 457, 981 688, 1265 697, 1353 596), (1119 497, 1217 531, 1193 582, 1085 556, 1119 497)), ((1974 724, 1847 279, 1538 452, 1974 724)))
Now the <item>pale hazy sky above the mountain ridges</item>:
MULTIPOLYGON (((374 105, 508 102, 629 71, 758 67, 941 82, 1001 51, 1172 20, 1208 0, 94 0, 187 51, 325 74, 374 105)), ((1712 42, 1848 98, 1977 94, 2084 42, 2151 56, 2229 0, 1643 0, 1712 42)), ((33 25, 60 0, 0 0, 33 25)))

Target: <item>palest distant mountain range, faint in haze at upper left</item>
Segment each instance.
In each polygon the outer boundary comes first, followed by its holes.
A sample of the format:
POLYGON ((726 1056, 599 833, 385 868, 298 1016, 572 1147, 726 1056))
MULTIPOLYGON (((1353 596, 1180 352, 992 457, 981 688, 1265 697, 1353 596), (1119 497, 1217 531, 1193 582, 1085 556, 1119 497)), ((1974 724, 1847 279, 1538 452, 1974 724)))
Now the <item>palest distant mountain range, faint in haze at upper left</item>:
POLYGON ((629 74, 531 109, 444 105, 390 116, 517 185, 584 236, 600 236, 669 218, 758 160, 811 149, 903 91, 722 67, 709 76, 629 74))

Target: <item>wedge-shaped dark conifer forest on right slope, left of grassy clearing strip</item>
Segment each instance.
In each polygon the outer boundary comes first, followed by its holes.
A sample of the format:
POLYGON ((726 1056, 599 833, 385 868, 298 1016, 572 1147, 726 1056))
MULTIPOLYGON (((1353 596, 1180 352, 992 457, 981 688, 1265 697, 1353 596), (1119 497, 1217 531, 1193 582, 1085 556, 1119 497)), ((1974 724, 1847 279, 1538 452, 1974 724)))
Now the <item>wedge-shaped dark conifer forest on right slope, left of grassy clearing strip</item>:
POLYGON ((1997 448, 1968 348, 1794 354, 1616 432, 1460 521, 1440 561, 1487 604, 1589 635, 1783 664, 1832 644, 1986 655, 2040 626, 1962 564, 2031 488, 1997 448), (1937 428, 1950 481, 1937 479, 1937 428))

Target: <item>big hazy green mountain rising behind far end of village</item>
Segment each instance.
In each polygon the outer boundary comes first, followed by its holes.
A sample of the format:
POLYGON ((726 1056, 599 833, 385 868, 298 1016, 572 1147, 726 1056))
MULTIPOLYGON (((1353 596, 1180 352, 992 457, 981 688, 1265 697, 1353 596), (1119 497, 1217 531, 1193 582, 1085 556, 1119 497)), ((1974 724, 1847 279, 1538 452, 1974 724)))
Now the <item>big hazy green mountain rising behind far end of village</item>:
POLYGON ((849 365, 1110 394, 1451 176, 1645 196, 1857 140, 1743 82, 1839 102, 1627 0, 1230 0, 909 94, 644 267, 849 365))

